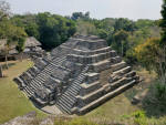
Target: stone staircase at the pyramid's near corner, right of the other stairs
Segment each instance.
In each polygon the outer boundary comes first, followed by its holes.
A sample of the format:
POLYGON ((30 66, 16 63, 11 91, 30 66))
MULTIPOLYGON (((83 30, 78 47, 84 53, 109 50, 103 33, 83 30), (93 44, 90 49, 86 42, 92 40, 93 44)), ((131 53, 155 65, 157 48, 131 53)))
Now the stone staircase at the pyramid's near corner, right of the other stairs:
POLYGON ((87 72, 89 66, 85 66, 85 69, 82 71, 82 73, 74 80, 74 82, 71 84, 71 86, 68 87, 68 90, 62 94, 62 96, 58 100, 55 105, 66 114, 72 113, 72 107, 74 106, 76 102, 76 95, 79 94, 81 86, 80 84, 85 80, 85 73, 87 72))

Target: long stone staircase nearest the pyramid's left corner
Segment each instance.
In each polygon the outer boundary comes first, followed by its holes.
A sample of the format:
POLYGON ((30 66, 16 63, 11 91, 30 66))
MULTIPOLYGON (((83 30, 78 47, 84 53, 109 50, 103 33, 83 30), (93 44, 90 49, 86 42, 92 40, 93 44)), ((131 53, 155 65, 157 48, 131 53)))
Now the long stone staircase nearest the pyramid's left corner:
POLYGON ((59 66, 62 64, 62 62, 65 61, 65 56, 62 58, 56 58, 55 60, 53 60, 49 65, 45 66, 44 70, 42 70, 37 76, 35 79, 33 79, 29 85, 27 85, 24 87, 24 92, 27 93, 27 95, 29 97, 31 97, 34 94, 34 91, 41 86, 42 84, 44 84, 44 81, 46 79, 49 79, 50 74, 53 73, 54 71, 54 65, 59 66))

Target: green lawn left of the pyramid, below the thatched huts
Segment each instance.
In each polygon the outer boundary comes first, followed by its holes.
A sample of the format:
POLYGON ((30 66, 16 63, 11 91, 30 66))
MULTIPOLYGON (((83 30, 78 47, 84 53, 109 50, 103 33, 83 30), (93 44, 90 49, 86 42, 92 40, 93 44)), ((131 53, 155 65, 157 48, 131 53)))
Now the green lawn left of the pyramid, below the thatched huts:
POLYGON ((4 70, 3 72, 6 77, 0 79, 0 124, 32 111, 35 111, 39 117, 45 116, 44 113, 32 105, 29 98, 20 92, 17 84, 12 81, 13 77, 30 67, 32 62, 24 60, 11 63, 12 65, 9 70, 4 70))

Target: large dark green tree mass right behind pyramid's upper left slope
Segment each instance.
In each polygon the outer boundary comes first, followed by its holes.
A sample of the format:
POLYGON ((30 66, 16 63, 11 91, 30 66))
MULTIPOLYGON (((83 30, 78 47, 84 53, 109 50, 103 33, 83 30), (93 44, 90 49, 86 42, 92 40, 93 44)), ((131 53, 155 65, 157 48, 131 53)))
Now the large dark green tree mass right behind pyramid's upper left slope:
POLYGON ((39 13, 37 15, 39 33, 44 49, 52 49, 66 41, 75 33, 74 23, 71 20, 51 13, 39 13))

